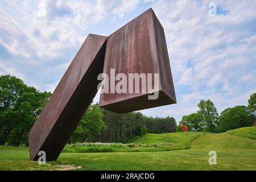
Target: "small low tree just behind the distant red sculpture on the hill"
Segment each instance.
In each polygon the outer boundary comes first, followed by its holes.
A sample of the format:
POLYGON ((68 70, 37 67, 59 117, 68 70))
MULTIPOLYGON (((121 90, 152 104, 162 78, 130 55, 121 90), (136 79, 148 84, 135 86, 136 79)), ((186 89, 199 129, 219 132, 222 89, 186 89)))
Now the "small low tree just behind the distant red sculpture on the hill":
POLYGON ((181 122, 184 125, 187 125, 190 131, 203 131, 203 126, 199 113, 184 115, 181 119, 181 122))

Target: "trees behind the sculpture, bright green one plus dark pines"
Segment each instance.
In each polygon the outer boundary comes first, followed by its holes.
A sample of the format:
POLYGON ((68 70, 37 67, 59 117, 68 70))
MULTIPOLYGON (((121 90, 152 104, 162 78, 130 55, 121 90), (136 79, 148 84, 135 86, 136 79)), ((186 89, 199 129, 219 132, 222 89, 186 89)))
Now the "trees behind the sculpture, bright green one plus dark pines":
POLYGON ((128 143, 146 133, 176 131, 173 117, 147 117, 140 112, 117 114, 91 104, 82 117, 69 143, 122 142, 128 143))

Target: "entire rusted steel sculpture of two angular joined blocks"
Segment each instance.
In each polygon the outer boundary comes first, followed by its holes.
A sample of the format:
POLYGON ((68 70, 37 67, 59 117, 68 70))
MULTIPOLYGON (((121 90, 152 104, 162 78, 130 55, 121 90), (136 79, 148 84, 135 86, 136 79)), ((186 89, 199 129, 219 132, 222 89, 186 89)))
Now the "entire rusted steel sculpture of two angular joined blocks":
MULTIPOLYGON (((164 30, 152 9, 108 37, 89 34, 29 134, 30 160, 46 152, 56 160, 97 93, 100 73, 159 75, 144 93, 102 93, 100 106, 117 113, 175 104, 175 91, 164 30), (159 93, 149 100, 152 92, 159 93)), ((109 87, 118 81, 110 80, 109 87)), ((136 82, 136 81, 134 81, 136 82)), ((148 82, 147 82, 148 84, 148 82)), ((129 82, 127 82, 129 88, 129 82)), ((143 90, 142 83, 139 90, 143 90)), ((133 88, 131 91, 133 91, 133 88)))

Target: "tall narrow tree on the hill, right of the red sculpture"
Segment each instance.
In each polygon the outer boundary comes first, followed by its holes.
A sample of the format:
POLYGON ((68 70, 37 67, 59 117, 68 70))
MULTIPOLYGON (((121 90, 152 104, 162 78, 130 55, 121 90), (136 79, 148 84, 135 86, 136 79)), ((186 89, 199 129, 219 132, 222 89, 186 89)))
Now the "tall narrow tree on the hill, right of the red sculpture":
POLYGON ((203 131, 214 132, 218 123, 218 111, 213 102, 201 100, 197 106, 203 131))

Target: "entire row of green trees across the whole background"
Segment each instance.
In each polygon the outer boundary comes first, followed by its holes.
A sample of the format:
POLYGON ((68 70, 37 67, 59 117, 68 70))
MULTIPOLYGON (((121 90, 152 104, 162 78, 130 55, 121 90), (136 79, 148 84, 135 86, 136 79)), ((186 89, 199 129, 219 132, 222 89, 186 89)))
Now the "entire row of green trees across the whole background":
MULTIPOLYGON (((39 92, 10 75, 0 76, 0 145, 28 145, 28 133, 50 92, 39 92)), ((201 100, 196 113, 184 115, 180 121, 188 131, 221 133, 239 127, 252 126, 256 120, 256 93, 247 106, 229 107, 220 115, 213 102, 201 100)), ((173 117, 147 117, 140 112, 117 114, 90 104, 69 143, 132 142, 146 133, 179 132, 173 117)))

